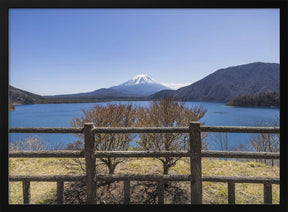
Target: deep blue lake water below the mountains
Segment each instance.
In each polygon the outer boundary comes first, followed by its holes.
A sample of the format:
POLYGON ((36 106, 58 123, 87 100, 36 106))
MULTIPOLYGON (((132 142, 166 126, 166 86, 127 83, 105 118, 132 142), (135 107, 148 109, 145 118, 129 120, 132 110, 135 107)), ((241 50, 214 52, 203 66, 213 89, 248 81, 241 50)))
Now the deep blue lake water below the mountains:
MULTIPOLYGON (((146 107, 148 101, 113 101, 109 103, 127 104, 146 107)), ((69 104, 34 104, 17 105, 15 111, 9 112, 9 127, 71 127, 70 121, 74 117, 83 115, 82 109, 89 109, 94 104, 101 103, 69 103, 69 104)), ((251 107, 227 107, 224 102, 186 102, 187 106, 202 105, 208 109, 206 115, 200 120, 205 125, 222 126, 255 126, 259 121, 275 121, 279 108, 251 108, 251 107)), ((206 138, 209 149, 218 149, 213 143, 213 133, 206 138)), ((229 148, 240 144, 247 147, 249 138, 253 134, 229 133, 229 148)), ((10 133, 9 141, 25 140, 29 136, 37 136, 45 143, 53 146, 59 145, 62 149, 68 143, 75 142, 78 138, 72 134, 26 134, 10 133)), ((131 145, 135 145, 131 142, 131 145)))

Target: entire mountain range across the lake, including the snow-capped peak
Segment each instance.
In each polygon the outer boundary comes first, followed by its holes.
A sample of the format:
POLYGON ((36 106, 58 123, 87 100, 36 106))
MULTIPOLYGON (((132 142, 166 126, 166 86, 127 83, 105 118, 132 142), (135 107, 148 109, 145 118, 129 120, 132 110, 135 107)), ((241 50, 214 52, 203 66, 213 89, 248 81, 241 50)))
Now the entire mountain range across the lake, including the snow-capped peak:
POLYGON ((10 86, 9 101, 12 104, 35 104, 173 97, 186 101, 228 102, 240 95, 279 91, 279 76, 279 64, 256 62, 217 70, 177 90, 172 90, 148 75, 140 74, 117 86, 67 95, 40 96, 10 86))

